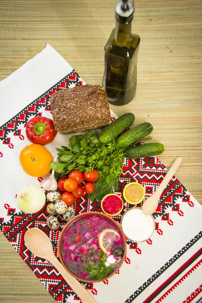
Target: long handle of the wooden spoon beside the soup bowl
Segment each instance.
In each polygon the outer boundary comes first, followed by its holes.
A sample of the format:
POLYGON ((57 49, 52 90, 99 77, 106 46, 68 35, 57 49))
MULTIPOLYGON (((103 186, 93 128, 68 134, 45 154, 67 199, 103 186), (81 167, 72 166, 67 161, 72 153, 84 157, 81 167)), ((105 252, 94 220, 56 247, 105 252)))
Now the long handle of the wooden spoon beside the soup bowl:
POLYGON ((67 281, 67 283, 72 287, 72 289, 76 292, 76 294, 80 297, 83 303, 96 303, 95 299, 91 296, 91 294, 79 283, 79 281, 71 276, 63 265, 58 261, 56 256, 53 254, 49 255, 47 260, 51 262, 55 268, 59 271, 59 273, 63 276, 63 278, 67 281))

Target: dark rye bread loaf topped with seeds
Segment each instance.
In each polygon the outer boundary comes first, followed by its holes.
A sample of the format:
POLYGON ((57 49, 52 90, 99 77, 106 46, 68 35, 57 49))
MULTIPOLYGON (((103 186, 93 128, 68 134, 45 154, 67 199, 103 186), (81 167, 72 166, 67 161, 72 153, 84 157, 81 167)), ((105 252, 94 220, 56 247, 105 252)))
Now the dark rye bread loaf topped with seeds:
POLYGON ((82 85, 56 91, 51 96, 55 129, 71 134, 110 123, 110 108, 101 85, 82 85))

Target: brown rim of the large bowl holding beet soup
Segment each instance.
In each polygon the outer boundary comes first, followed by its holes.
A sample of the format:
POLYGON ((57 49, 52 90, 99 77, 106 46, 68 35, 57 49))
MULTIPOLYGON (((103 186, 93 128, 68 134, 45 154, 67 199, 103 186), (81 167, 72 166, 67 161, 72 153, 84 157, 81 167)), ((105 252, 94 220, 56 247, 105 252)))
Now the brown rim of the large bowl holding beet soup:
POLYGON ((67 222, 65 224, 65 226, 63 227, 62 231, 61 231, 61 234, 59 236, 59 241, 58 241, 58 254, 59 254, 59 259, 60 259, 60 262, 62 263, 63 267, 66 269, 66 271, 72 275, 74 278, 76 278, 77 280, 80 280, 80 281, 83 281, 83 282, 86 282, 86 283, 95 283, 95 282, 102 282, 102 281, 105 281, 106 279, 109 279, 110 277, 112 277, 119 269, 120 267, 122 266, 124 260, 125 260, 125 257, 126 257, 126 237, 125 237, 125 234, 120 226, 120 224, 118 222, 116 222, 113 218, 109 217, 108 215, 106 214, 103 214, 103 213, 99 213, 99 212, 84 212, 84 213, 81 213, 77 216, 75 216, 74 218, 72 218, 69 222, 67 222), (117 267, 116 271, 113 271, 109 276, 107 276, 105 279, 102 279, 102 280, 90 280, 90 279, 84 279, 84 278, 81 278, 77 275, 75 275, 74 273, 72 273, 66 266, 65 262, 63 261, 63 258, 62 258, 62 252, 61 252, 61 249, 62 249, 62 238, 63 238, 63 234, 65 233, 65 231, 67 230, 67 228, 74 222, 76 221, 77 219, 85 216, 85 215, 98 215, 98 216, 101 216, 101 217, 104 217, 108 220, 110 220, 111 222, 113 222, 118 231, 120 232, 121 236, 122 236, 122 240, 123 240, 123 246, 124 246, 124 253, 123 253, 123 257, 122 257, 122 260, 121 262, 119 263, 119 266, 117 267))

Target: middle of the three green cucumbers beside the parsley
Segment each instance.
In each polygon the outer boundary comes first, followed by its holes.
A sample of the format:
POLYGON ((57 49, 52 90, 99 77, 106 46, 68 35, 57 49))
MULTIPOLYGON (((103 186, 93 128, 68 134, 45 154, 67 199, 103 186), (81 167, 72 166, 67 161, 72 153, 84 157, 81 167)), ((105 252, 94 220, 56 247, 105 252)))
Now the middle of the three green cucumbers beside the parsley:
POLYGON ((139 142, 145 136, 149 135, 152 131, 153 126, 150 123, 141 123, 121 135, 118 138, 117 143, 119 146, 129 146, 133 143, 139 142))

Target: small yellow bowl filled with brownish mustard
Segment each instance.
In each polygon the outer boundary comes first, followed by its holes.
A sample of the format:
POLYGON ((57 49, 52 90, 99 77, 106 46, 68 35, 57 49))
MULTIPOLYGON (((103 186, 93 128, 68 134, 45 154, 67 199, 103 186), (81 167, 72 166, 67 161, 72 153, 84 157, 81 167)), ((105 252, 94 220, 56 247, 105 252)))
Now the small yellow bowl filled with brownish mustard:
POLYGON ((129 204, 138 204, 144 199, 144 187, 137 182, 128 183, 124 187, 123 196, 129 204))

